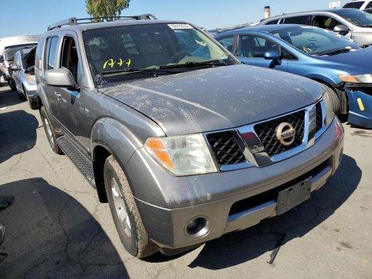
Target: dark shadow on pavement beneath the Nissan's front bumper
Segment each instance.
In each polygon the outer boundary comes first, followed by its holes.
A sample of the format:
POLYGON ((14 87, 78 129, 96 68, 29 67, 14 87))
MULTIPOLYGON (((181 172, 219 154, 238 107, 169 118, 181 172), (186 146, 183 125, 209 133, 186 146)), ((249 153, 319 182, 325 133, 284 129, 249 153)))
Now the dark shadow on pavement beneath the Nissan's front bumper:
MULTIPOLYGON (((225 269, 274 250, 281 236, 267 232, 285 233, 285 243, 302 237, 332 216, 357 188, 362 170, 350 156, 343 156, 338 171, 320 190, 311 194, 303 204, 282 216, 263 220, 260 224, 240 232, 225 234, 219 239, 208 241, 189 267, 204 269, 225 269)), ((184 254, 166 257, 157 253, 149 257, 149 262, 166 262, 184 254)), ((279 250, 278 256, 281 257, 279 250)), ((269 257, 266 259, 269 262, 269 257)), ((269 264, 268 264, 269 266, 269 264)))

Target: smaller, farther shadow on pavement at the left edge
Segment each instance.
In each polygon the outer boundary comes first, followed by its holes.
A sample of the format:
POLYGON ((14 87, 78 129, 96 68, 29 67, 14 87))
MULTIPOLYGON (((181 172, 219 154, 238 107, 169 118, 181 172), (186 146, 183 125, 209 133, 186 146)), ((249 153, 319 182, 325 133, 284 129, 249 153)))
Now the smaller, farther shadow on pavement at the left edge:
POLYGON ((24 110, 0 114, 0 163, 32 149, 36 144, 38 119, 24 110))

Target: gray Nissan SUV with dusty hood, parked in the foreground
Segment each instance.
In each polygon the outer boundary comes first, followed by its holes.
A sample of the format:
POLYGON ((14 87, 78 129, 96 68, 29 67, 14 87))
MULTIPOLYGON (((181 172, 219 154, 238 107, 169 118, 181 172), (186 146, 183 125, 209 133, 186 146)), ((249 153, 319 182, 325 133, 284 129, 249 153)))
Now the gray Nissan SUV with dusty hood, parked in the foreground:
POLYGON ((187 22, 58 22, 38 42, 35 73, 52 149, 109 203, 135 257, 283 214, 342 157, 325 87, 241 65, 187 22))

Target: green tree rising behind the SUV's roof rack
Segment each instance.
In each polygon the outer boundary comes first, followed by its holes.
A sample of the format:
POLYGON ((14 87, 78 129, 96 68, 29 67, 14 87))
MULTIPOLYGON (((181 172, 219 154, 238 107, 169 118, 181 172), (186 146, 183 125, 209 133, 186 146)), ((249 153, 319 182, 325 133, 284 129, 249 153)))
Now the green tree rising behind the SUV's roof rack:
POLYGON ((129 7, 131 0, 85 0, 87 13, 92 17, 107 17, 113 20, 121 15, 121 10, 129 7))

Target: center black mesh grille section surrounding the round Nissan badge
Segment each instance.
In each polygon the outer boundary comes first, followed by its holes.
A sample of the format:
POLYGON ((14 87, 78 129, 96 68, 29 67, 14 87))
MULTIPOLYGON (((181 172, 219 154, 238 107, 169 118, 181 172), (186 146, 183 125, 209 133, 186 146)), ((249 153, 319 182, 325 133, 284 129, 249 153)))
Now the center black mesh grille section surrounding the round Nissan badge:
POLYGON ((269 121, 258 123, 254 126, 255 133, 260 138, 265 150, 269 156, 275 156, 279 153, 288 151, 302 144, 304 139, 305 111, 295 112, 285 116, 271 119, 269 121), (296 130, 295 140, 289 146, 281 144, 276 138, 276 128, 280 123, 288 122, 296 130))

